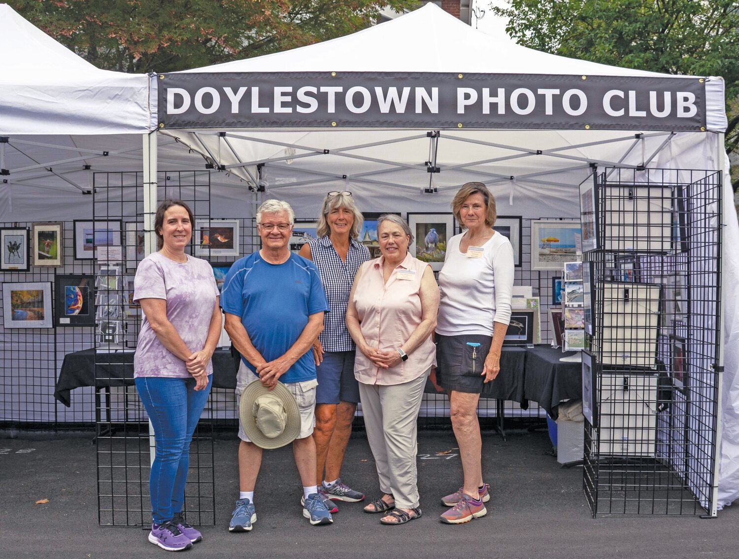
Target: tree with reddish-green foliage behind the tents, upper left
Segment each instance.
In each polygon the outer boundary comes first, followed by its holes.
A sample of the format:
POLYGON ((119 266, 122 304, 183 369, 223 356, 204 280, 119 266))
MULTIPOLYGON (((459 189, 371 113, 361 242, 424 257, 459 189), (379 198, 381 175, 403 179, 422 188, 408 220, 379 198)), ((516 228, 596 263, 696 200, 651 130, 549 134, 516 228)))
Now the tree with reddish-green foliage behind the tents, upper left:
POLYGON ((171 72, 278 52, 369 25, 415 0, 9 0, 95 66, 171 72))

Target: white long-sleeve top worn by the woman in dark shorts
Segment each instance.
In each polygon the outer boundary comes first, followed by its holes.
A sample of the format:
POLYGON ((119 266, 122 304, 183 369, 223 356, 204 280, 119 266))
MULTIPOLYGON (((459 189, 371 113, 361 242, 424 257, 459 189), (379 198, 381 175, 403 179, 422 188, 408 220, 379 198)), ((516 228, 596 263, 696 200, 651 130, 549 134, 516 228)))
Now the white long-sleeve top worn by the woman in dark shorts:
POLYGON ((446 259, 439 272, 441 300, 436 331, 442 336, 479 333, 493 335, 493 322, 511 320, 514 258, 511 241, 496 232, 474 251, 460 252, 463 234, 446 243, 446 259), (469 253, 469 254, 468 254, 469 253))

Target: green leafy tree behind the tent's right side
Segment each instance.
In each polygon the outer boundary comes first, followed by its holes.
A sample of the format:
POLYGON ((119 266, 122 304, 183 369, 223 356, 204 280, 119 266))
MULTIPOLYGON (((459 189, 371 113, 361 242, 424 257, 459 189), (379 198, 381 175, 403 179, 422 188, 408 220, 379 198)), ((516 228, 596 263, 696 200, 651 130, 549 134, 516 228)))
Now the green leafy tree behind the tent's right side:
POLYGON ((508 7, 491 9, 508 18, 506 31, 525 47, 638 70, 722 76, 726 150, 738 148, 739 2, 508 0, 508 7))

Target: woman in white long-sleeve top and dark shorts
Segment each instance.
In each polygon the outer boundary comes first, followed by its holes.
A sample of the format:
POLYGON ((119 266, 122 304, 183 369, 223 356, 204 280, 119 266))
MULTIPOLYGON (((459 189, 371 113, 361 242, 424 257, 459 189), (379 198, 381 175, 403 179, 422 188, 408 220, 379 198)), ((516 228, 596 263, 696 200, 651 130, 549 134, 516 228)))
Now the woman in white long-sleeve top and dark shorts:
POLYGON ((466 183, 452 200, 462 234, 449 240, 439 274, 437 382, 449 394, 454 436, 459 444, 463 486, 446 495, 452 507, 441 515, 462 524, 487 514, 489 485, 483 483, 482 439, 477 402, 483 383, 500 371, 500 351, 511 319, 514 258, 508 238, 492 229, 495 198, 483 183, 466 183))

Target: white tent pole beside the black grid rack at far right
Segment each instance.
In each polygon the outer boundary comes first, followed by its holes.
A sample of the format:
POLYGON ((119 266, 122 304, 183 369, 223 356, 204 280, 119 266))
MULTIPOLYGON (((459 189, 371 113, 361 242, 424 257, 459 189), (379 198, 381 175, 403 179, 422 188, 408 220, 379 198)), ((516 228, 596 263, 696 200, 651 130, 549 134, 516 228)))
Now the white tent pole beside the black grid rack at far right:
MULTIPOLYGON (((721 173, 721 190, 722 192, 719 193, 721 203, 719 204, 720 213, 718 214, 719 219, 719 229, 718 229, 718 240, 721 243, 721 258, 718 260, 718 285, 719 287, 723 287, 723 262, 726 261, 726 243, 723 243, 722 237, 723 237, 723 227, 726 223, 728 223, 727 220, 729 219, 735 219, 735 217, 732 217, 729 215, 729 209, 732 209, 730 212, 733 214, 734 204, 731 203, 732 198, 731 197, 724 197, 723 193, 727 192, 731 194, 731 181, 729 183, 726 183, 724 178, 726 175, 729 174, 729 169, 726 169, 726 147, 724 143, 724 135, 723 132, 719 132, 716 135, 716 163, 718 167, 718 171, 721 173), (726 219, 724 219, 726 218, 726 219)), ((723 291, 723 289, 721 290, 723 291)), ((716 439, 714 444, 714 450, 713 450, 713 480, 711 483, 711 509, 709 510, 709 517, 715 518, 718 516, 718 481, 719 481, 719 474, 721 473, 721 438, 723 436, 723 410, 722 410, 722 402, 721 399, 723 398, 723 324, 726 320, 726 312, 725 308, 726 305, 723 304, 723 293, 721 293, 721 299, 720 299, 720 312, 718 314, 719 320, 718 320, 718 356, 716 359, 717 363, 716 366, 718 367, 718 375, 717 375, 717 382, 716 382, 716 439)))

